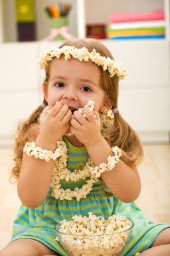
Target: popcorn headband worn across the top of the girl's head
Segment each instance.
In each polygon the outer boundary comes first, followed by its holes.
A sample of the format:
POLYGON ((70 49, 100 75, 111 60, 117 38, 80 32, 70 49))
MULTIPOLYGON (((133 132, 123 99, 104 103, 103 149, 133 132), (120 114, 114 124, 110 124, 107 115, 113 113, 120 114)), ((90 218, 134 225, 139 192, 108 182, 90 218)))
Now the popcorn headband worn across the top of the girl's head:
POLYGON ((53 58, 59 59, 61 55, 65 55, 65 60, 78 59, 79 61, 93 61, 98 66, 103 68, 103 71, 108 69, 110 77, 116 75, 119 79, 124 79, 128 75, 128 71, 124 68, 123 64, 119 61, 114 61, 110 57, 103 57, 93 49, 89 52, 87 48, 83 47, 80 49, 75 48, 75 46, 62 46, 62 48, 56 48, 53 46, 40 54, 38 63, 41 69, 46 69, 48 64, 53 58))

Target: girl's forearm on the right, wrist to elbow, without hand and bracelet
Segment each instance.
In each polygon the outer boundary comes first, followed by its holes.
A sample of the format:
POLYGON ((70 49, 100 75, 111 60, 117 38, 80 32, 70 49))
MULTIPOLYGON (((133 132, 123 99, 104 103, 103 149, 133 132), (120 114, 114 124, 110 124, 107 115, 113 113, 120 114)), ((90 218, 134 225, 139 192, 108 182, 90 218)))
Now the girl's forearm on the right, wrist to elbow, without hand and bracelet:
MULTIPOLYGON (((103 162, 108 163, 108 156, 113 156, 112 148, 103 137, 86 148, 96 166, 103 162)), ((137 168, 130 168, 122 160, 112 170, 103 172, 101 178, 114 196, 121 201, 130 203, 140 194, 141 183, 137 168)))

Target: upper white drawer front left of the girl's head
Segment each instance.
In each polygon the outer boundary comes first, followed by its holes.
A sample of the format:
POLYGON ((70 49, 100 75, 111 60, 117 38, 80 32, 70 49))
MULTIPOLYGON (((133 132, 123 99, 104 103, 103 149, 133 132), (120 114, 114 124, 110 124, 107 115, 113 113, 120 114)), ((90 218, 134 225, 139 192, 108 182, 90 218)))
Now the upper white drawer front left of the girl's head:
POLYGON ((0 88, 5 91, 30 91, 38 85, 37 44, 0 44, 0 88), (34 60, 34 61, 33 61, 34 60))

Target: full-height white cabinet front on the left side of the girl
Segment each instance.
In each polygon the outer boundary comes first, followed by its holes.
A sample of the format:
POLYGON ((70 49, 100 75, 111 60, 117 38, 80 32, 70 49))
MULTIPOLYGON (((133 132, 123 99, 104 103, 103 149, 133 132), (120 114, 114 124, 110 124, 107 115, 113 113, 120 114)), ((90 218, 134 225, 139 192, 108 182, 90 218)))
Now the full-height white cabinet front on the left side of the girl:
POLYGON ((11 143, 16 125, 40 102, 37 44, 0 44, 0 145, 11 143))

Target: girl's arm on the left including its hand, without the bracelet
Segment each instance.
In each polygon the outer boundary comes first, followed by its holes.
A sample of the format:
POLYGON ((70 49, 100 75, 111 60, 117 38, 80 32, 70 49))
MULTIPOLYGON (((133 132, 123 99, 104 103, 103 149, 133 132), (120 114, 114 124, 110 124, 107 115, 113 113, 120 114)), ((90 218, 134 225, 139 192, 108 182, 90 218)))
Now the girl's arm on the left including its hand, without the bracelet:
MULTIPOLYGON (((35 141, 36 147, 54 152, 56 142, 69 129, 71 115, 67 104, 62 102, 53 106, 50 112, 45 108, 41 124, 34 125, 30 130, 30 141, 35 141)), ((54 160, 46 162, 24 153, 17 185, 19 198, 24 205, 35 208, 44 201, 50 188, 53 167, 54 160)))

